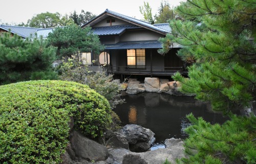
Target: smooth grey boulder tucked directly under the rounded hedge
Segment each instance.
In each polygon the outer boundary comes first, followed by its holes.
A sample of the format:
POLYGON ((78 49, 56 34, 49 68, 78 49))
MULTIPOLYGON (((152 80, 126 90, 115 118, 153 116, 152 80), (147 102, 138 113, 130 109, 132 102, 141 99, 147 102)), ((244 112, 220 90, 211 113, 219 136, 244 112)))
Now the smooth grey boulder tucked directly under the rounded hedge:
POLYGON ((71 148, 76 157, 87 161, 100 161, 108 158, 108 149, 80 132, 74 131, 70 138, 71 148))

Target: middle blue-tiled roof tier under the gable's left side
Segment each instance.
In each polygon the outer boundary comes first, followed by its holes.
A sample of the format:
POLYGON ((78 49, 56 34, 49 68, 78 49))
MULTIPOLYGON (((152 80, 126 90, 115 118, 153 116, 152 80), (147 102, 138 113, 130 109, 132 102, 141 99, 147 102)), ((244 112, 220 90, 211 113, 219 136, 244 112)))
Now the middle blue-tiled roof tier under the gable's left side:
POLYGON ((120 35, 128 29, 139 29, 141 27, 136 25, 119 25, 92 28, 93 33, 97 35, 120 35))

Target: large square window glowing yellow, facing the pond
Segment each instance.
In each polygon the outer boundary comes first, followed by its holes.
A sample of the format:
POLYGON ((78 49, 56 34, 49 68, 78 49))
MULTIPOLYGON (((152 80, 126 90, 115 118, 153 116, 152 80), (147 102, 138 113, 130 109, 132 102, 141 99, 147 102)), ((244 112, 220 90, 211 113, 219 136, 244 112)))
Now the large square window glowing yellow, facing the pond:
POLYGON ((145 49, 127 50, 127 65, 130 67, 145 67, 145 49))

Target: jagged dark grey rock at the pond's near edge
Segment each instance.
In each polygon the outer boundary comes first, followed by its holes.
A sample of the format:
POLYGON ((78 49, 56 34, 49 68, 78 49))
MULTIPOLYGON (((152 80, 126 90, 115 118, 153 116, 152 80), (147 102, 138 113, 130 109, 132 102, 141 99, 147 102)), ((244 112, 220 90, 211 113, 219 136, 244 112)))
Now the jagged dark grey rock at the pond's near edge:
POLYGON ((125 125, 116 133, 127 140, 131 151, 147 151, 155 141, 155 133, 135 124, 125 125), (139 150, 132 150, 131 148, 139 148, 139 150))

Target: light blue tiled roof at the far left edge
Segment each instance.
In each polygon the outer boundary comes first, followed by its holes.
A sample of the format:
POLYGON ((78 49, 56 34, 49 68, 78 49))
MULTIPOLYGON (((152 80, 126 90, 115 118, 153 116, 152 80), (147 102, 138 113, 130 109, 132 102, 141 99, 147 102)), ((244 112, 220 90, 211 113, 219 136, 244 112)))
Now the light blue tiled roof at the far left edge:
POLYGON ((8 25, 0 25, 1 29, 6 31, 11 30, 12 33, 22 36, 24 38, 30 37, 39 30, 40 28, 30 28, 30 27, 20 27, 20 26, 8 26, 8 25))

